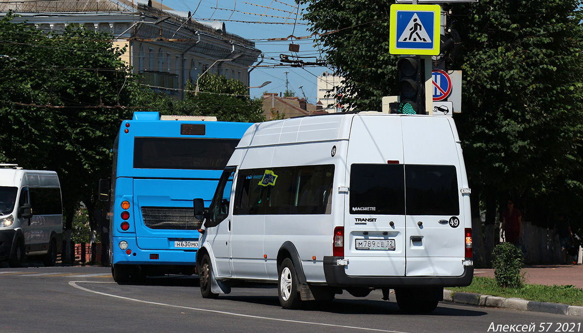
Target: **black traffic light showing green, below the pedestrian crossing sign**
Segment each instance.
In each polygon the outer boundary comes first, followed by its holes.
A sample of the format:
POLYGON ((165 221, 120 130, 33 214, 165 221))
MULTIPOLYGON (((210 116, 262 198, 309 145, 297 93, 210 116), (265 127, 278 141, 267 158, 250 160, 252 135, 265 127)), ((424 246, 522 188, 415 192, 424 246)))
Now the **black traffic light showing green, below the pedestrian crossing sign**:
POLYGON ((401 57, 399 69, 399 101, 391 107, 391 113, 425 114, 424 62, 418 56, 401 57))

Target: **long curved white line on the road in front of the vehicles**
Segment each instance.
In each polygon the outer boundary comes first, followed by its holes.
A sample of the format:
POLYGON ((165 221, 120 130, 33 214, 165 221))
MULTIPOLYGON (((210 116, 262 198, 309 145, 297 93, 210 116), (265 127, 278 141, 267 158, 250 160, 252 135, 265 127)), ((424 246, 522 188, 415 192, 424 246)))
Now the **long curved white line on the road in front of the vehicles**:
POLYGON ((145 304, 153 304, 153 305, 160 305, 160 306, 167 306, 167 307, 176 307, 178 309, 187 309, 187 310, 194 310, 194 311, 203 311, 203 312, 211 312, 211 313, 218 313, 218 314, 226 314, 228 316, 236 316, 236 317, 245 317, 245 318, 255 318, 255 319, 264 319, 264 320, 273 320, 273 321, 283 321, 285 323, 296 323, 296 324, 307 324, 307 325, 316 325, 316 326, 326 326, 326 327, 338 327, 338 328, 352 328, 353 330, 359 331, 375 331, 375 332, 390 332, 390 333, 406 333, 401 331, 388 331, 388 330, 379 330, 378 328, 364 328, 364 327, 356 327, 356 326, 347 326, 347 325, 334 325, 334 324, 324 324, 324 323, 314 323, 313 321, 301 321, 301 320, 289 320, 289 319, 280 319, 280 318, 271 318, 271 317, 262 317, 262 316, 253 316, 251 314, 242 314, 242 313, 235 313, 235 312, 228 312, 228 311, 219 311, 219 310, 209 310, 209 309, 201 309, 197 307, 188 307, 188 306, 180 306, 180 305, 173 305, 173 304, 166 304, 166 303, 158 303, 158 302, 149 302, 146 300, 139 300, 139 299, 132 299, 129 297, 118 296, 108 293, 97 292, 95 290, 83 288, 82 286, 76 285, 76 283, 115 283, 115 282, 99 282, 99 281, 69 281, 69 285, 84 290, 86 292, 95 293, 98 295, 104 295, 109 297, 115 297, 118 299, 129 300, 132 302, 138 303, 145 303, 145 304))

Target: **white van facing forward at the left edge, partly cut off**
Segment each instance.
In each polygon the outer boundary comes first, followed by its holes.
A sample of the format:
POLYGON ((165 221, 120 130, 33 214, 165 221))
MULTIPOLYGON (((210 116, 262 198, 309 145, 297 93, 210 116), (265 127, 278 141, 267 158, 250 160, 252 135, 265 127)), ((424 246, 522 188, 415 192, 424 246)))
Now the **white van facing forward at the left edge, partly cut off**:
POLYGON ((0 261, 20 267, 25 256, 54 266, 63 239, 61 186, 55 171, 0 164, 0 261))

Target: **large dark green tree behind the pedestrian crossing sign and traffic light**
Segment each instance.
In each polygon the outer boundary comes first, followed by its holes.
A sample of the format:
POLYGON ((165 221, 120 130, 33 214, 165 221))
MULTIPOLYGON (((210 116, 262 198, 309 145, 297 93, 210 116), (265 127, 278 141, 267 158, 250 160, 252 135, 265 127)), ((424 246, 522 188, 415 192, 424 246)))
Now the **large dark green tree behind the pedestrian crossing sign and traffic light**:
MULTIPOLYGON (((388 54, 392 1, 301 3, 307 4, 304 18, 311 31, 338 30, 317 42, 335 75, 343 76, 345 96, 353 96, 342 103, 378 110, 382 96, 396 94, 396 57, 388 54)), ((509 194, 538 202, 537 208, 565 201, 581 210, 580 5, 580 0, 444 4, 453 10, 449 19, 462 37, 461 57, 448 69, 463 70, 462 114, 454 117, 476 218, 482 199, 487 222, 493 223, 498 199, 509 194)), ((531 220, 541 216, 523 211, 531 220)), ((489 236, 493 240, 493 229, 489 236)))

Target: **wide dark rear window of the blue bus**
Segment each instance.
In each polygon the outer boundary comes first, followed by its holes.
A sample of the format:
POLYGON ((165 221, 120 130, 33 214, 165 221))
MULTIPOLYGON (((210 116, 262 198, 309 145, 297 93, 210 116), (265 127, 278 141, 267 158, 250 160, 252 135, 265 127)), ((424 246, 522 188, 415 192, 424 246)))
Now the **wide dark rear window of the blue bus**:
POLYGON ((239 139, 134 138, 134 169, 223 170, 239 139))

